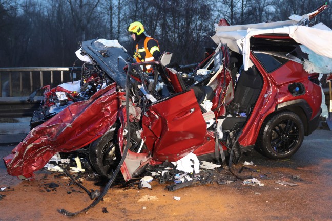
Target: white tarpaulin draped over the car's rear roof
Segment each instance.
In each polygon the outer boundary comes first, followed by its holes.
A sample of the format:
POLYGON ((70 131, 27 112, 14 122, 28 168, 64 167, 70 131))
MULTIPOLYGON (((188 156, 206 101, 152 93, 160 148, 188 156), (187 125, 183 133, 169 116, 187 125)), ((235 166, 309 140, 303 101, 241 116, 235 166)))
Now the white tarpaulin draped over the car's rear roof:
POLYGON ((322 23, 313 27, 294 25, 296 21, 259 23, 239 26, 216 26, 212 39, 227 43, 232 51, 242 53, 244 70, 250 67, 250 37, 261 34, 288 34, 296 42, 305 45, 318 55, 332 58, 332 30, 322 23))

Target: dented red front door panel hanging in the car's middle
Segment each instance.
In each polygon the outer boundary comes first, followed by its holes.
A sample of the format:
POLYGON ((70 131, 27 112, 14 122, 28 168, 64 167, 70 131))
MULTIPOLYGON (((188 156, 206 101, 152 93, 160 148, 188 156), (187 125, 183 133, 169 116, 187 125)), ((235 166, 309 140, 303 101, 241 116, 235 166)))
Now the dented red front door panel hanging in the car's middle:
POLYGON ((193 90, 152 104, 143 131, 153 159, 175 162, 204 142, 206 123, 193 90))

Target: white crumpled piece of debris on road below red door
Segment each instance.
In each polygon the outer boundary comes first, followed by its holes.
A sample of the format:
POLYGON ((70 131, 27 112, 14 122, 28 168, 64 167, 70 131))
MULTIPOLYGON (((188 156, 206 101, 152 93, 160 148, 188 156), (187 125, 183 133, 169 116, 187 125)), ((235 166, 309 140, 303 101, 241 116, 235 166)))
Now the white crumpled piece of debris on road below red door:
POLYGON ((199 160, 194 153, 189 153, 185 157, 181 158, 176 162, 172 162, 174 166, 176 166, 177 170, 181 170, 184 172, 199 173, 199 160))

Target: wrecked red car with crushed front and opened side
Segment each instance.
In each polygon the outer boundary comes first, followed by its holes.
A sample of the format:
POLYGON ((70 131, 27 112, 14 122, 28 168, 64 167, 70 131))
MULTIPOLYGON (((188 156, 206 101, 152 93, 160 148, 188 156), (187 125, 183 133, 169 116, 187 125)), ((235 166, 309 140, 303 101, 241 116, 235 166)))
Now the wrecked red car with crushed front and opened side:
POLYGON ((305 21, 254 24, 261 32, 242 42, 232 31, 250 25, 221 27, 228 36, 216 29, 217 47, 198 65, 132 64, 117 41, 82 42, 78 90, 46 88, 32 130, 4 158, 8 173, 31 179, 54 154, 73 151, 89 156, 101 176, 119 168, 126 181, 189 153, 217 163, 254 148, 273 159, 292 156, 318 126, 321 88, 318 74, 303 68, 303 43, 279 29, 309 28, 305 21))

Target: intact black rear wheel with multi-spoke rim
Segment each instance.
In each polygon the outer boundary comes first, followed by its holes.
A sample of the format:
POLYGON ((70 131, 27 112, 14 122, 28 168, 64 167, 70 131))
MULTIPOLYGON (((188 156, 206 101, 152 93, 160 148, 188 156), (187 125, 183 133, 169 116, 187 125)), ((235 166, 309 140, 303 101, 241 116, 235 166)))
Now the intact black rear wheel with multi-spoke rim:
POLYGON ((271 159, 291 157, 301 146, 304 128, 300 117, 291 111, 272 115, 263 123, 258 148, 271 159))

